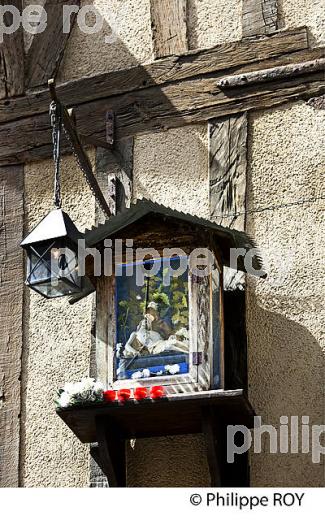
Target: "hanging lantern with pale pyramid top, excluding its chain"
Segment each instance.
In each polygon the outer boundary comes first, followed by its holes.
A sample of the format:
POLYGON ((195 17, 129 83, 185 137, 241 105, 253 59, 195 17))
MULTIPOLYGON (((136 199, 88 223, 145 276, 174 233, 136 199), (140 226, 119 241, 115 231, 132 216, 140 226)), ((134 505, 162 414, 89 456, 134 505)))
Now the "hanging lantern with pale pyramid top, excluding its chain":
POLYGON ((26 285, 46 298, 80 293, 78 239, 82 235, 62 209, 52 210, 23 240, 26 285))

